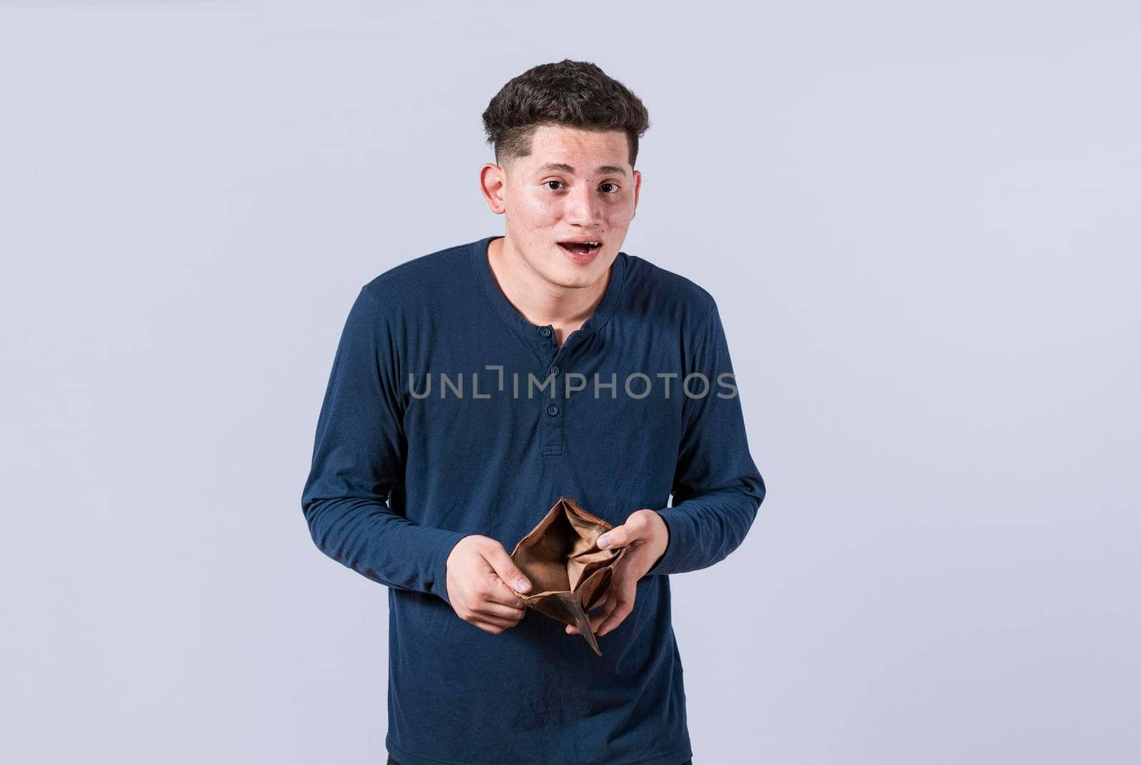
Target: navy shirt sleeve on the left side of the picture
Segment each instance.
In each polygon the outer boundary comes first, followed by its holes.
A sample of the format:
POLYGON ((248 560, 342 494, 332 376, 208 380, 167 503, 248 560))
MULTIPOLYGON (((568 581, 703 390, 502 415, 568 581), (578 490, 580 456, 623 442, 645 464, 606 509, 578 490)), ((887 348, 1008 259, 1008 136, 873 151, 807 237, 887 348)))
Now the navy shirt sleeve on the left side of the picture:
POLYGON ((361 290, 325 391, 301 510, 317 547, 388 587, 447 597, 447 556, 464 534, 420 526, 387 504, 403 480, 397 353, 380 300, 361 290))

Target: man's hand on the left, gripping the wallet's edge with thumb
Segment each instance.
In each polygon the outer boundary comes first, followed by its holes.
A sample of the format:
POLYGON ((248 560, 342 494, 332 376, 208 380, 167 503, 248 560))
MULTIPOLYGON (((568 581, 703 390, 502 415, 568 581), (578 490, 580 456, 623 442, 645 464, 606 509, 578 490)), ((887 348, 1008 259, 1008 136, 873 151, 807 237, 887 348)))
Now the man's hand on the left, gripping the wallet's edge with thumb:
POLYGON ((471 534, 447 556, 447 600, 455 615, 493 635, 519 624, 527 604, 511 592, 531 583, 497 539, 471 534), (515 583, 510 587, 508 581, 515 583))

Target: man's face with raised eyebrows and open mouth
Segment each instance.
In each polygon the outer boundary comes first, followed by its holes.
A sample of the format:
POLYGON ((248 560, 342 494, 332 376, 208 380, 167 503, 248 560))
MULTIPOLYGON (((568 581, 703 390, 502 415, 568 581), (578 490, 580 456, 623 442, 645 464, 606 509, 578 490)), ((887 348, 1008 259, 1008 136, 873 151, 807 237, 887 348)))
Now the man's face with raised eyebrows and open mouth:
POLYGON ((541 278, 585 287, 609 270, 638 206, 641 173, 629 154, 622 131, 542 127, 531 154, 510 164, 501 185, 487 172, 497 165, 485 165, 488 201, 504 213, 508 237, 541 278), (600 245, 586 250, 568 244, 574 242, 600 245))

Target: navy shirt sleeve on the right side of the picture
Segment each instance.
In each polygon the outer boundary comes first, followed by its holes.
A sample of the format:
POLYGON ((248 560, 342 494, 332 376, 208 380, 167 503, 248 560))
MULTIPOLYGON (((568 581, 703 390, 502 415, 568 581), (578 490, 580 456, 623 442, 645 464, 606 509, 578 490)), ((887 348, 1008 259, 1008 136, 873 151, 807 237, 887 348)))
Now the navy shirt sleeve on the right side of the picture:
POLYGON ((744 542, 764 499, 715 303, 695 339, 691 364, 690 382, 680 391, 683 430, 673 499, 657 511, 670 540, 647 576, 695 571, 725 559, 744 542), (705 396, 697 396, 703 382, 696 373, 709 382, 705 396))

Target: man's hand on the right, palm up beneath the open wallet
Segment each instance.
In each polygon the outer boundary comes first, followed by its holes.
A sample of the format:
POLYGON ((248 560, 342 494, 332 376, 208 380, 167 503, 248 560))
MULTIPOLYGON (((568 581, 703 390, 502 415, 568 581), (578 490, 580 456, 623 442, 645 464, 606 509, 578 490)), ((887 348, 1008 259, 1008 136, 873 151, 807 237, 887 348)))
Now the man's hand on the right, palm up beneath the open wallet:
MULTIPOLYGON (((653 510, 634 511, 625 523, 614 527, 598 538, 598 546, 602 550, 616 547, 628 550, 614 567, 614 579, 606 595, 594 605, 594 608, 601 605, 602 612, 586 615, 590 628, 596 635, 605 635, 630 616, 634 608, 638 580, 654 568, 669 544, 670 527, 653 510)), ((569 635, 581 634, 574 625, 567 625, 566 630, 569 635)))

